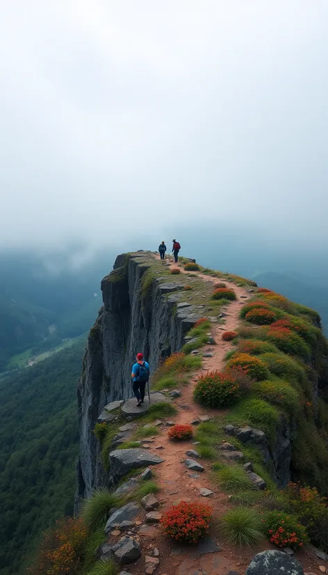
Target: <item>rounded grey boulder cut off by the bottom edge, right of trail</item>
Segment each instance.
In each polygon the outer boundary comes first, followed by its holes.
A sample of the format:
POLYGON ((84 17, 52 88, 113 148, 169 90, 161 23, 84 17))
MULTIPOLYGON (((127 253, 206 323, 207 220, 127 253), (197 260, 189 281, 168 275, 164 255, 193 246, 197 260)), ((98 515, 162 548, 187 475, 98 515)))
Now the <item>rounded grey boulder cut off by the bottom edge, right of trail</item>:
POLYGON ((246 575, 304 575, 303 567, 283 551, 270 549, 258 553, 247 567, 246 575))

